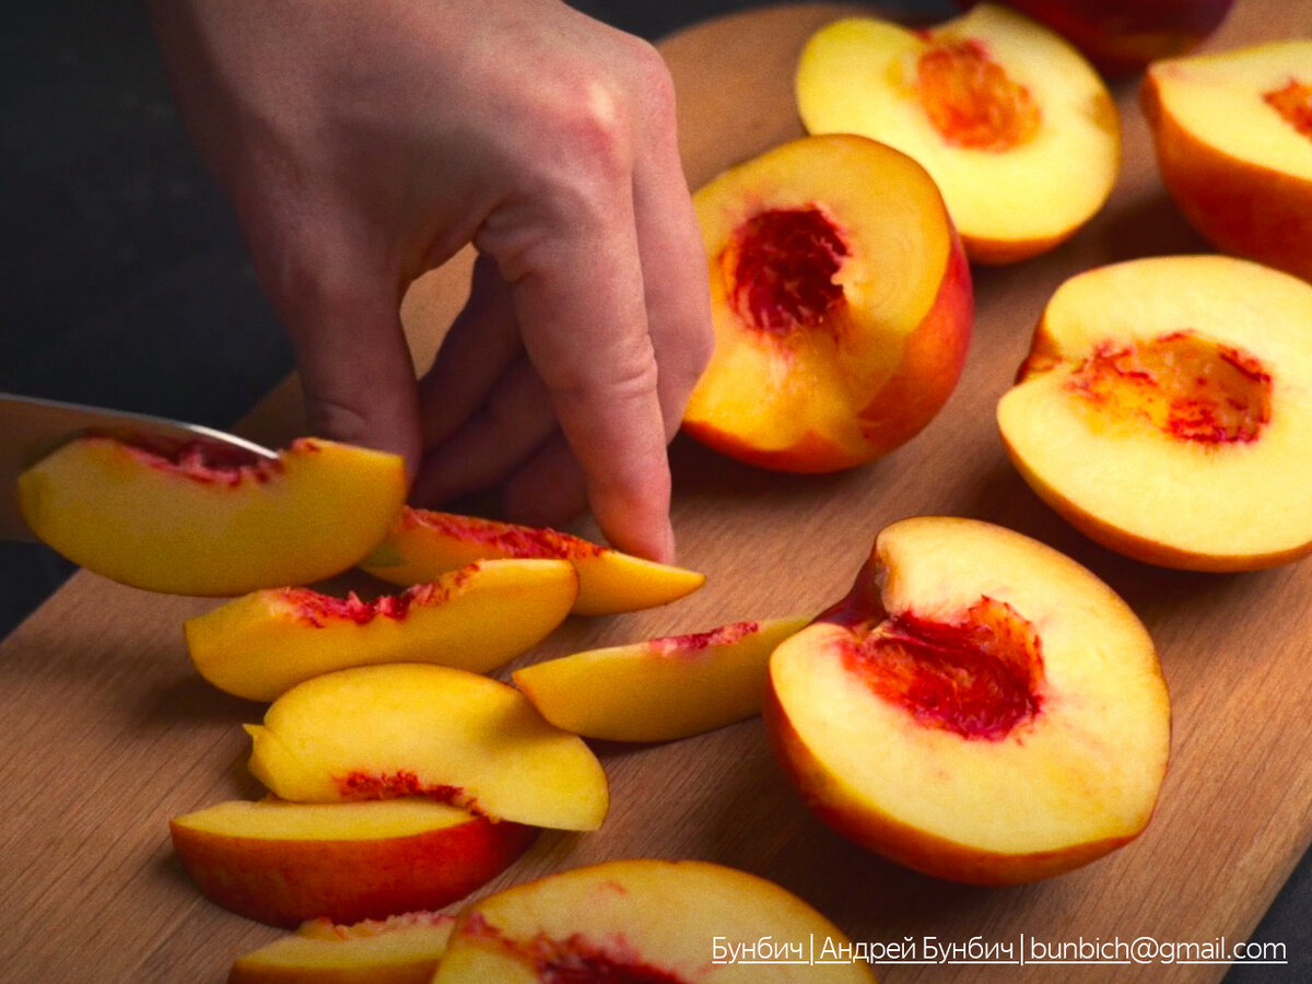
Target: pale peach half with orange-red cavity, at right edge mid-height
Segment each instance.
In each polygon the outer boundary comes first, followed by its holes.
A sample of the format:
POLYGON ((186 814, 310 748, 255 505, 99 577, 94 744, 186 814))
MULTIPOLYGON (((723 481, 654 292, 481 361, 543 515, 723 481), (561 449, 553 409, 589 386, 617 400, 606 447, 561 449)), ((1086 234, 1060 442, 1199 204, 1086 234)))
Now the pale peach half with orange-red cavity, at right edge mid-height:
POLYGON ((997 405, 1008 454, 1085 535, 1194 571, 1312 550, 1312 286, 1227 256, 1063 283, 997 405))

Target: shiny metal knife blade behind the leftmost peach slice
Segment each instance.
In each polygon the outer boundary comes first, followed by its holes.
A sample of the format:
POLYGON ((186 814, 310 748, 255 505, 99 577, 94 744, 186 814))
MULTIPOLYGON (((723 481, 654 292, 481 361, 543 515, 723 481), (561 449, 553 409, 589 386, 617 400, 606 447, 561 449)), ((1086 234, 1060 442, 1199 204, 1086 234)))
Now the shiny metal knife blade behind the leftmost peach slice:
POLYGON ((199 446, 215 462, 278 458, 268 447, 197 424, 0 392, 0 539, 37 539, 18 512, 18 475, 84 434, 117 437, 160 454, 199 446))

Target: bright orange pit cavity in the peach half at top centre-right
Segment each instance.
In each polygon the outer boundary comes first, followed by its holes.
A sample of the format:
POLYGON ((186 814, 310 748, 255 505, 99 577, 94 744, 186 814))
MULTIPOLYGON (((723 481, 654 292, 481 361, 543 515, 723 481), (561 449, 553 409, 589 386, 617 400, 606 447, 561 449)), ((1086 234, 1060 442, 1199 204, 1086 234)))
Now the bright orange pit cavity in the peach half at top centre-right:
POLYGON ((1030 91, 972 39, 933 45, 916 64, 920 102, 954 147, 1009 151, 1039 130, 1030 91))

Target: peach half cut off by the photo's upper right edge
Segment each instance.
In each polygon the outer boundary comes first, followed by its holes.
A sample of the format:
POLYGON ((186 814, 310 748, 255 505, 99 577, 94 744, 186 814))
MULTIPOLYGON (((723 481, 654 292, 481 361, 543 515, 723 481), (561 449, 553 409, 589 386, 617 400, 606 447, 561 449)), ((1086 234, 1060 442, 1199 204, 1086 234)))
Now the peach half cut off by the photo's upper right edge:
POLYGON ((1140 97, 1189 223, 1312 281, 1312 38, 1157 62, 1140 97))

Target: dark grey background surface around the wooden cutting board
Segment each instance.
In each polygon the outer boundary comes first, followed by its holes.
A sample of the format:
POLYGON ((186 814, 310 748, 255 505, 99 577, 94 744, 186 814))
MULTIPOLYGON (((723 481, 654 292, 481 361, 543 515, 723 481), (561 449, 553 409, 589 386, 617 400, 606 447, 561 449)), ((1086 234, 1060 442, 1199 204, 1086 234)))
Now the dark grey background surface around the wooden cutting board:
MULTIPOLYGON (((655 41, 764 4, 573 5, 655 41)), ((230 428, 291 370, 291 352, 181 131, 144 10, 13 7, 0 41, 0 390, 230 428)), ((930 18, 955 10, 899 4, 909 7, 930 18)), ((0 636, 71 571, 43 547, 0 542, 0 636)), ((1237 968, 1227 984, 1307 980, 1309 911, 1304 858, 1256 937, 1286 942, 1302 968, 1237 968)))

